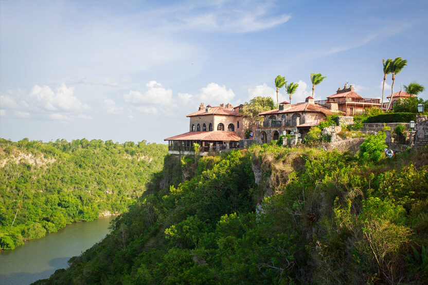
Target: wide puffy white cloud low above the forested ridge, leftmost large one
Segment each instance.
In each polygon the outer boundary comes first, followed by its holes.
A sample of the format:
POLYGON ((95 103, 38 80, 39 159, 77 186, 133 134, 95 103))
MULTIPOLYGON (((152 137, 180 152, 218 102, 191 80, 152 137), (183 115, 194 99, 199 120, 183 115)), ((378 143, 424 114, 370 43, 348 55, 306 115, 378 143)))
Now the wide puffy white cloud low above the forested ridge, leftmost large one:
POLYGON ((29 94, 29 99, 45 111, 81 112, 91 109, 73 96, 73 92, 74 87, 67 87, 65 84, 61 84, 56 92, 49 86, 34 85, 29 94))

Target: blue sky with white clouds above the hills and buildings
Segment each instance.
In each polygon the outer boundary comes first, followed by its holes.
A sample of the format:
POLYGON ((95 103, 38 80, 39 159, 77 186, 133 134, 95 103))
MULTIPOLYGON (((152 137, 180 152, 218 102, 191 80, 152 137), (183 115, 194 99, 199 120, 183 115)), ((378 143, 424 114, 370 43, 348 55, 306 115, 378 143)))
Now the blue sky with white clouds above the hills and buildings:
POLYGON ((345 82, 380 98, 397 56, 394 91, 428 89, 427 14, 417 0, 0 0, 0 137, 165 143, 201 102, 276 102, 278 74, 299 83, 293 104, 312 72, 327 76, 316 100, 345 82))

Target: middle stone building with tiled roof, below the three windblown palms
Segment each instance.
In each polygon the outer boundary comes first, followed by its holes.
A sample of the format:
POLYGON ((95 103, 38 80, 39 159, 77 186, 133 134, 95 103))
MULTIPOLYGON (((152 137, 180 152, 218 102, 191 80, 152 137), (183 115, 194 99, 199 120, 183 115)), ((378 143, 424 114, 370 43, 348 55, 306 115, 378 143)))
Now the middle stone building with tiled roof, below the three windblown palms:
POLYGON ((290 134, 295 130, 303 137, 312 126, 318 125, 327 115, 337 112, 337 103, 327 102, 325 107, 319 106, 312 97, 306 98, 304 103, 293 105, 282 102, 278 109, 259 113, 264 121, 257 125, 256 139, 267 143, 278 140, 284 131, 290 134))

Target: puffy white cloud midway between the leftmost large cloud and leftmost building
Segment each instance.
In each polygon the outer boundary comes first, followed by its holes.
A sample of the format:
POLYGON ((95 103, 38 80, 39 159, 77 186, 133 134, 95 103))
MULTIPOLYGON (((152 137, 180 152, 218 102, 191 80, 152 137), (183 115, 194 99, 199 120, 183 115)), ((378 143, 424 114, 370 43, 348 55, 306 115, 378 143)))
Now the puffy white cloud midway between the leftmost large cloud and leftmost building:
POLYGON ((161 105, 171 102, 172 90, 166 89, 162 84, 152 80, 146 84, 147 90, 144 92, 130 90, 128 94, 124 94, 123 98, 127 103, 133 105, 161 105))

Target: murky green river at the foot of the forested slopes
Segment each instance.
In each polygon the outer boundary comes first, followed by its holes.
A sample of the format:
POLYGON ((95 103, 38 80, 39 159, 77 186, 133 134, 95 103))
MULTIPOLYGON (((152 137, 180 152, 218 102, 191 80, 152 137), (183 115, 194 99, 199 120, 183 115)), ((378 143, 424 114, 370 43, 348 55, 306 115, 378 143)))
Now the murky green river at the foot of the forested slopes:
POLYGON ((109 233, 113 218, 70 224, 13 251, 0 251, 0 284, 29 284, 67 268, 70 257, 80 255, 109 233))

